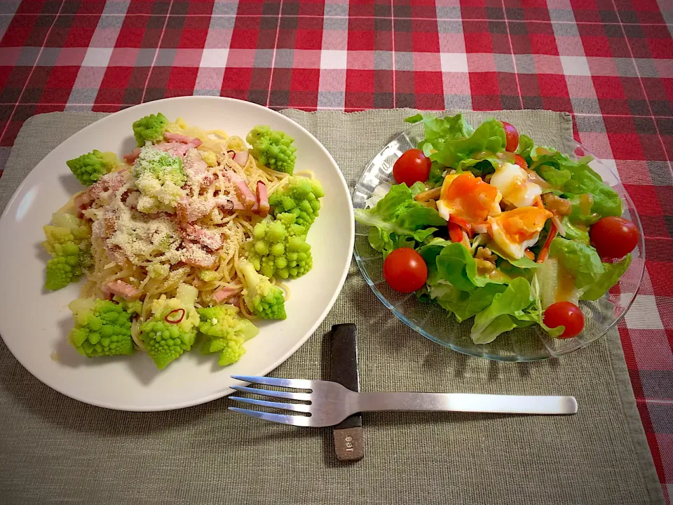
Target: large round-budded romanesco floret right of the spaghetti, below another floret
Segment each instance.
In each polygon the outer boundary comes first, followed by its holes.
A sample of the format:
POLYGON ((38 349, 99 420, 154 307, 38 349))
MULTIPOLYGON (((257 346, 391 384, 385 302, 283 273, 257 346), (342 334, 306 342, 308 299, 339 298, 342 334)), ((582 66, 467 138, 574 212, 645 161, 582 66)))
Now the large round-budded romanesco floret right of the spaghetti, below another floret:
POLYGON ((313 267, 311 245, 306 243, 306 227, 294 214, 282 213, 275 220, 267 217, 254 225, 248 242, 247 258, 267 277, 297 278, 313 267))

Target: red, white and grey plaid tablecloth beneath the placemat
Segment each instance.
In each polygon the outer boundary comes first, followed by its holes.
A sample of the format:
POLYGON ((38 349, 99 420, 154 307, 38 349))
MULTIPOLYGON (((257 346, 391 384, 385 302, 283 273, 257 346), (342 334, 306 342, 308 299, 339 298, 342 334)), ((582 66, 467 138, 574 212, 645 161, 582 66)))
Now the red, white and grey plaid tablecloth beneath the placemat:
MULTIPOLYGON (((673 492, 673 1, 0 1, 0 170, 22 123, 182 95, 273 109, 550 109, 615 168, 646 273, 620 323, 673 492)), ((0 171, 1 174, 1 171, 0 171)))

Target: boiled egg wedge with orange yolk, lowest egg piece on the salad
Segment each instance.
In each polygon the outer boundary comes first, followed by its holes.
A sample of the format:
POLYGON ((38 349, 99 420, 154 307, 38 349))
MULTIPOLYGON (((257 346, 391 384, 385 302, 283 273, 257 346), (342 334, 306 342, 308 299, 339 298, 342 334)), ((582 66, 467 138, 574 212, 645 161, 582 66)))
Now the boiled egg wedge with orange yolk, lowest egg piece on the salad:
POLYGON ((540 231, 552 213, 545 208, 521 207, 489 217, 491 236, 498 248, 514 260, 524 257, 526 248, 540 238, 540 231))

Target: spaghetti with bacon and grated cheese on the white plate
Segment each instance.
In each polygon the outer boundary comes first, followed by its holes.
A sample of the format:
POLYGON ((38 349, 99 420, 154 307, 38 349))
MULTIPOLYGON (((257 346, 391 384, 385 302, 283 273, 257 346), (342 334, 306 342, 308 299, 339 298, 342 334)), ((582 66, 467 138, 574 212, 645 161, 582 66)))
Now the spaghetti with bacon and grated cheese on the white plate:
MULTIPOLYGON (((231 173, 247 182, 251 193, 261 182, 271 194, 290 177, 259 166, 253 156, 247 156, 245 140, 223 130, 202 130, 177 119, 168 131, 200 141, 196 147, 198 157, 190 152, 182 156, 187 182, 177 210, 162 204, 156 213, 138 212, 137 202, 143 195, 132 177, 135 168, 130 163, 93 184, 86 191, 92 201, 81 209, 93 231, 93 267, 86 272, 81 297, 111 297, 114 292, 109 285, 121 281, 141 292, 141 320, 151 315, 155 299, 175 296, 181 283, 198 289, 200 307, 212 304, 219 290, 240 295, 246 285, 238 261, 244 256, 245 243, 252 238, 254 224, 263 216, 254 207, 241 204, 237 195, 240 188, 231 182, 231 173), (202 172, 194 175, 198 170, 202 172), (198 177, 208 177, 210 184, 198 184, 198 177), (165 243, 142 234, 163 234, 158 238, 165 243)), ((163 148, 171 152, 170 147, 163 148)), ((64 208, 75 208, 81 195, 75 195, 64 208)), ((287 292, 285 285, 283 289, 287 292)), ((240 309, 247 318, 254 317, 245 304, 240 304, 240 309)), ((139 325, 138 321, 134 323, 132 337, 142 349, 139 325)))

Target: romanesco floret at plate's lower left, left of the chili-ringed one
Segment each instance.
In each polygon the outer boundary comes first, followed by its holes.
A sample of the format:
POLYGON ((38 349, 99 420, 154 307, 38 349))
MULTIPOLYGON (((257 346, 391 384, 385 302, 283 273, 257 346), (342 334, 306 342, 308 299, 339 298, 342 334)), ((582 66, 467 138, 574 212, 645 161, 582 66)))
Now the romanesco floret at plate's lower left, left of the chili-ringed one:
POLYGON ((82 356, 133 354, 131 314, 110 300, 78 298, 68 305, 75 326, 68 335, 82 356))

